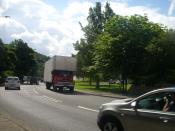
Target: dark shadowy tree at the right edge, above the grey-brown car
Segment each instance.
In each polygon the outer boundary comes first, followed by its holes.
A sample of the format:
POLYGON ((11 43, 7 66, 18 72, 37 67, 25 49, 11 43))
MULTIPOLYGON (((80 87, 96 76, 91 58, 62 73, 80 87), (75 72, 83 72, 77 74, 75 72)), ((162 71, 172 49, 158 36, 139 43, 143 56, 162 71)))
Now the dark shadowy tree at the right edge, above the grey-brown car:
POLYGON ((158 40, 147 46, 149 66, 146 84, 174 84, 175 79, 175 32, 167 30, 158 40))

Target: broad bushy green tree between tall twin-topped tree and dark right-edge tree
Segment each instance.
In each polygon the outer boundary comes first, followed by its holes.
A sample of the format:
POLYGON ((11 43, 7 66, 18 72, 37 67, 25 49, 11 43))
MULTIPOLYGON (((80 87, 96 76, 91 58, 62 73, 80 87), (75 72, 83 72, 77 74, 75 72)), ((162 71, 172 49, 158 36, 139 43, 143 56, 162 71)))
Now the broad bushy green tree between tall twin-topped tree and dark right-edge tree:
POLYGON ((146 48, 163 34, 163 27, 146 16, 116 15, 106 23, 104 33, 96 41, 95 63, 104 68, 103 72, 110 70, 116 76, 121 75, 125 84, 127 79, 141 84, 149 66, 146 48))

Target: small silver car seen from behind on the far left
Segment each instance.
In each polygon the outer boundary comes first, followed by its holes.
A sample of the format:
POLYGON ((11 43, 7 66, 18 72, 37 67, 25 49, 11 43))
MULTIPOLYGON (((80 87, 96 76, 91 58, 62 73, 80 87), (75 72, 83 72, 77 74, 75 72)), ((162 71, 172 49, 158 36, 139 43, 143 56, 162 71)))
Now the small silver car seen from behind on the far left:
POLYGON ((20 80, 16 76, 9 76, 5 80, 5 90, 18 89, 20 90, 20 80))

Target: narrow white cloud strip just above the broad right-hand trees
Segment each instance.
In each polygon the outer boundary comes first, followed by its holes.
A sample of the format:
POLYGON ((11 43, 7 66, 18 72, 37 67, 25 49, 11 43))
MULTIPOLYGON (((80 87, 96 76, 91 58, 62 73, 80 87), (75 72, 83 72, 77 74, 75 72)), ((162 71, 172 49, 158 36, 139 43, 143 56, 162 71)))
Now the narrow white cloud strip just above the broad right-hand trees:
POLYGON ((169 28, 175 28, 175 17, 161 14, 159 8, 150 8, 146 6, 129 6, 126 2, 112 2, 111 7, 114 12, 119 15, 147 15, 148 18, 155 23, 163 24, 169 28))

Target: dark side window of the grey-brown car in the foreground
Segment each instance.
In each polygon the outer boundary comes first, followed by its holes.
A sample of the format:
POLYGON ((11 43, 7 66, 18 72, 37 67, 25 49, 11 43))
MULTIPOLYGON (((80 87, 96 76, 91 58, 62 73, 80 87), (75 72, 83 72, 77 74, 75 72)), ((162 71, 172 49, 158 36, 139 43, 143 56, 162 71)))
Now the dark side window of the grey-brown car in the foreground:
MULTIPOLYGON (((163 108, 166 104, 166 98, 168 99, 168 103, 172 103, 174 94, 172 93, 157 93, 154 95, 146 96, 137 102, 138 109, 148 109, 148 110, 156 110, 163 111, 163 108)), ((174 103, 172 103, 174 104, 174 103)), ((172 110, 172 109, 171 109, 172 110)), ((170 110, 167 110, 170 111, 170 110)))

